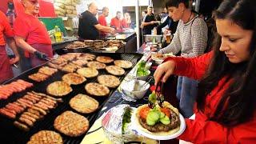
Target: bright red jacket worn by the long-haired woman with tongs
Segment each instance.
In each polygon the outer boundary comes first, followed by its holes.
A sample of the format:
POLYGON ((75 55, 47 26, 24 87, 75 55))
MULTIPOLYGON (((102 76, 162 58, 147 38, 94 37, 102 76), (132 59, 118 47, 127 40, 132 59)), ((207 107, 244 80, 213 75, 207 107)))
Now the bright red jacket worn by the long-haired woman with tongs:
MULTIPOLYGON (((174 60, 174 74, 200 80, 210 64, 212 55, 213 52, 197 58, 166 58, 165 62, 174 60)), ((206 98, 205 112, 195 109, 195 120, 186 119, 186 130, 179 139, 194 143, 256 143, 256 113, 249 122, 233 127, 222 126, 209 120, 229 85, 230 82, 225 82, 225 78, 218 82, 218 86, 206 98)))

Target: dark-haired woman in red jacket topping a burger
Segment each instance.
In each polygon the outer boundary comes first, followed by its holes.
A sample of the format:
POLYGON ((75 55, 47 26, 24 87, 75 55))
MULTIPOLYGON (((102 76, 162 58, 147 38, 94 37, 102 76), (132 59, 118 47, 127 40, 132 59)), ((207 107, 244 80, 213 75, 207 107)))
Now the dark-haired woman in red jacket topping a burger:
POLYGON ((166 58, 155 82, 170 74, 200 81, 195 119, 179 139, 194 143, 256 142, 256 1, 226 0, 214 13, 214 50, 198 58, 166 58))

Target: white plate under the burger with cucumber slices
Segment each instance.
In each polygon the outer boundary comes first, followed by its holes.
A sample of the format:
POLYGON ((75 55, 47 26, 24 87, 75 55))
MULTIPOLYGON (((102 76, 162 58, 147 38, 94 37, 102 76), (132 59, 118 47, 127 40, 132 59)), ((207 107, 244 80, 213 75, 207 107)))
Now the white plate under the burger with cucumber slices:
POLYGON ((177 138, 179 135, 181 135, 184 130, 186 129, 186 122, 185 119, 183 118, 182 114, 179 114, 179 120, 181 122, 181 125, 179 126, 179 130, 174 133, 174 134, 170 134, 170 135, 154 135, 154 134, 149 134, 146 131, 142 130, 142 128, 139 126, 139 122, 136 118, 136 112, 137 109, 134 111, 134 113, 132 114, 131 117, 131 122, 133 123, 132 129, 135 131, 135 133, 141 134, 142 136, 145 136, 146 138, 151 138, 151 139, 155 139, 155 140, 169 140, 169 139, 174 139, 177 138))

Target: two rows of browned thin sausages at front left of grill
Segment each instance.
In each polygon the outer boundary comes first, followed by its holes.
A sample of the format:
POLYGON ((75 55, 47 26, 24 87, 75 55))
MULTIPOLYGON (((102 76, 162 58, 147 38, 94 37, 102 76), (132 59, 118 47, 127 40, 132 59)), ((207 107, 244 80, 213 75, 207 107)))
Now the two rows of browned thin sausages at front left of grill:
POLYGON ((21 130, 28 131, 34 126, 34 122, 42 119, 50 110, 54 109, 58 102, 62 102, 61 98, 52 98, 46 94, 27 92, 17 101, 7 104, 0 109, 0 114, 7 118, 16 118, 20 114, 18 120, 14 122, 21 130))

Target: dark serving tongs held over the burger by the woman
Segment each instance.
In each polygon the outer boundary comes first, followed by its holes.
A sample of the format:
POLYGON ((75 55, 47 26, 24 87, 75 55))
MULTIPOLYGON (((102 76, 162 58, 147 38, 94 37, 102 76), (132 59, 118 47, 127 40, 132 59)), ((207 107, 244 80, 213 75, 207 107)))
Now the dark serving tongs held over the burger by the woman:
MULTIPOLYGON (((162 77, 160 78, 160 81, 157 83, 157 86, 155 87, 155 95, 157 96, 157 102, 158 102, 158 105, 160 107, 163 107, 162 106, 162 103, 165 101, 165 97, 164 97, 164 82, 162 82, 162 77)), ((153 102, 150 102, 148 103, 148 106, 153 109, 154 108, 154 103, 153 102)))

